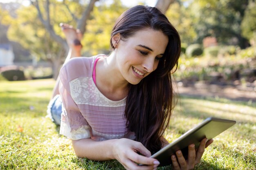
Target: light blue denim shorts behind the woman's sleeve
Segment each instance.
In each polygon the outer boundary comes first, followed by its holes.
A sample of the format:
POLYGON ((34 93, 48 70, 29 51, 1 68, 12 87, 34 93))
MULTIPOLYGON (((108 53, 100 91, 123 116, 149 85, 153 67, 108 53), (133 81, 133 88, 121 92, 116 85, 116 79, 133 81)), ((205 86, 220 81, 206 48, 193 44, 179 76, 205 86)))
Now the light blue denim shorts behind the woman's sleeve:
POLYGON ((56 95, 50 100, 47 106, 47 117, 52 119, 56 125, 61 125, 62 100, 60 95, 56 95))

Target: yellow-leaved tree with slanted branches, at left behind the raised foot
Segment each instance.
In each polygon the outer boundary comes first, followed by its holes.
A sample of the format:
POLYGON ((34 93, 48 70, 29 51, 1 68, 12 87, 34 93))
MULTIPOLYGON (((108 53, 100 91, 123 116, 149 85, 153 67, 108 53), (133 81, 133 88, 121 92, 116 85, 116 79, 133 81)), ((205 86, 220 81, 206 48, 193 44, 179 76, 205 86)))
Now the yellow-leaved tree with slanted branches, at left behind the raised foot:
POLYGON ((83 4, 77 0, 31 0, 32 5, 18 9, 17 16, 10 19, 4 15, 4 20, 8 20, 5 23, 10 25, 8 38, 22 44, 38 59, 51 62, 56 78, 68 50, 59 23, 72 24, 85 33, 96 1, 83 4))

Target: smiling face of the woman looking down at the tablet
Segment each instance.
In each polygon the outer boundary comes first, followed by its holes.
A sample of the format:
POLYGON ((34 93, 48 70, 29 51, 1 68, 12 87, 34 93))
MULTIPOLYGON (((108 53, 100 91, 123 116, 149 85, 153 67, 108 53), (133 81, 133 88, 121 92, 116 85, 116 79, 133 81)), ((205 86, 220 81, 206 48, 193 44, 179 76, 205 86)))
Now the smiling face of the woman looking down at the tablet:
POLYGON ((132 37, 120 40, 115 51, 121 75, 130 84, 138 84, 155 71, 167 44, 168 37, 162 31, 153 29, 137 31, 132 37))

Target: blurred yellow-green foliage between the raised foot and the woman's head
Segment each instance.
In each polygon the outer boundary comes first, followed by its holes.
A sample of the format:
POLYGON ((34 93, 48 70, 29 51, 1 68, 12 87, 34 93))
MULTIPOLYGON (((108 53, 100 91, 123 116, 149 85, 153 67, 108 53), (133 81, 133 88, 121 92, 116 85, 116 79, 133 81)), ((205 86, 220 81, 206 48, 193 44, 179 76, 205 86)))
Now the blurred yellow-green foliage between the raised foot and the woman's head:
POLYGON ((114 0, 111 4, 102 2, 94 8, 82 40, 85 56, 110 53, 110 33, 115 21, 126 9, 120 0, 114 0))

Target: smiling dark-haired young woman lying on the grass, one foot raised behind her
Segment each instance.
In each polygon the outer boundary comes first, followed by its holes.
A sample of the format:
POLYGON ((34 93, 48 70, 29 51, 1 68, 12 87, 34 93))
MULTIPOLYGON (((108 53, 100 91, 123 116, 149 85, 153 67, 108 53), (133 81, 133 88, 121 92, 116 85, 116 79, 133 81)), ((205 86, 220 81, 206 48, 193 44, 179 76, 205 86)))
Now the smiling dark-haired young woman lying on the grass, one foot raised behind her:
MULTIPOLYGON (((81 55, 81 35, 68 25, 62 28, 70 46, 67 58, 74 58, 61 68, 48 106, 60 134, 72 139, 78 157, 155 170, 159 162, 149 157, 168 144, 162 135, 173 110, 171 73, 180 56, 176 29, 155 7, 132 7, 115 23, 109 56, 75 57, 81 55)), ((206 141, 198 150, 190 145, 187 160, 177 151, 173 169, 193 169, 212 143, 206 141)))

